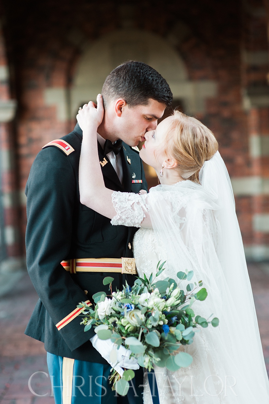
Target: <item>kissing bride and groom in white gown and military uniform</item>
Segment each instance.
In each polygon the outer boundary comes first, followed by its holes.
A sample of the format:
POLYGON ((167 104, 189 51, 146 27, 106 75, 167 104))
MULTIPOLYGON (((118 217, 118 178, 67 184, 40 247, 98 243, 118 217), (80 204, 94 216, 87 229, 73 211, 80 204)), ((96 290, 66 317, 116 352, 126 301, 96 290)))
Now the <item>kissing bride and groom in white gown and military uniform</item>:
POLYGON ((44 342, 56 404, 156 403, 152 375, 143 375, 123 346, 112 363, 112 341, 92 328, 84 332, 77 305, 93 304, 111 273, 113 290, 121 290, 137 273, 156 274, 160 260, 166 260, 162 279, 186 269, 197 284, 202 279, 208 297, 195 305, 204 318, 220 319, 219 327, 202 328, 191 345, 181 345, 193 357, 189 367, 154 366, 160 404, 268 401, 229 175, 200 121, 174 111, 157 125, 171 102, 156 70, 123 63, 106 78, 97 104, 79 110, 74 130, 45 145, 32 165, 26 254, 40 299, 25 333, 44 342), (142 160, 160 181, 149 193, 142 160), (136 269, 129 273, 124 260, 132 257, 136 269), (112 391, 111 366, 135 370, 127 396, 112 391))

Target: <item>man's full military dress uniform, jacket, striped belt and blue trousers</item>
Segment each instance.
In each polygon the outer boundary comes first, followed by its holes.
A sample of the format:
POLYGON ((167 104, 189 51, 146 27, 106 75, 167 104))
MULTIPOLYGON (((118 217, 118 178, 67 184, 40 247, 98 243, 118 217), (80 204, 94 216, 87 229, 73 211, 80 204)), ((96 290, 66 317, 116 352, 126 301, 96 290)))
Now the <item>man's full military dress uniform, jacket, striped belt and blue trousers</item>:
MULTIPOLYGON (((140 404, 143 387, 135 397, 131 388, 128 398, 115 397, 107 382, 111 366, 89 341, 95 335, 94 329, 84 332, 80 325, 81 310, 77 305, 81 301, 94 303, 92 295, 107 288, 103 286, 105 276, 113 276, 113 290, 121 290, 126 281, 130 286, 134 284, 135 275, 122 274, 119 269, 111 271, 113 262, 121 267, 122 257, 132 257, 132 239, 137 231, 135 227, 113 226, 110 219, 80 203, 81 143, 82 130, 77 124, 68 135, 45 145, 30 170, 25 189, 27 269, 40 299, 25 334, 44 342, 57 404, 116 404, 116 400, 140 404), (101 264, 98 259, 102 259, 101 264)), ((135 193, 147 189, 138 151, 122 143, 121 183, 98 143, 107 188, 135 193)), ((139 369, 136 383, 143 383, 141 380, 139 369)))

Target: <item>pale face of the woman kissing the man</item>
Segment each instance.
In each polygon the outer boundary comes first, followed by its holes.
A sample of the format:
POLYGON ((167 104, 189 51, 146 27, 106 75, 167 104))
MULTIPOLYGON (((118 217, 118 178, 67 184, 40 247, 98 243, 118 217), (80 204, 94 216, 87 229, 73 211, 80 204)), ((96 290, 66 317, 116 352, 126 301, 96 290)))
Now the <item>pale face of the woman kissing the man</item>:
POLYGON ((162 167, 162 162, 165 159, 164 155, 164 135, 166 133, 167 124, 172 119, 171 116, 160 122, 155 130, 150 130, 145 133, 145 143, 140 150, 141 159, 155 168, 156 171, 160 171, 162 167))

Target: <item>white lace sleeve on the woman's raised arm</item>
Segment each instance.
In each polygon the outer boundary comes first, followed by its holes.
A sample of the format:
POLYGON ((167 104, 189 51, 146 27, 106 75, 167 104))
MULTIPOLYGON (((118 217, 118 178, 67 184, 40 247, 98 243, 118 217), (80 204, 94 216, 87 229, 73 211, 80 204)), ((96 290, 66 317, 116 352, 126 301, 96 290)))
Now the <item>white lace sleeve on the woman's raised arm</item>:
POLYGON ((145 212, 149 211, 147 195, 114 191, 112 202, 117 215, 111 219, 111 224, 141 227, 141 222, 146 216, 145 212))

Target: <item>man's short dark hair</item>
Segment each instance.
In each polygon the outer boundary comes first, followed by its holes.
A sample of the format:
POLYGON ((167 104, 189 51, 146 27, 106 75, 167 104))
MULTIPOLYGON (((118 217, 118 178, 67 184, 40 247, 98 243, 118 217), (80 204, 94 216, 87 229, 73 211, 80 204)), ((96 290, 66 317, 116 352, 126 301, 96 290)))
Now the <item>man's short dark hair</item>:
POLYGON ((147 105, 149 98, 167 107, 173 95, 167 81, 153 67, 130 60, 116 67, 105 79, 102 95, 104 106, 123 98, 129 107, 147 105))

